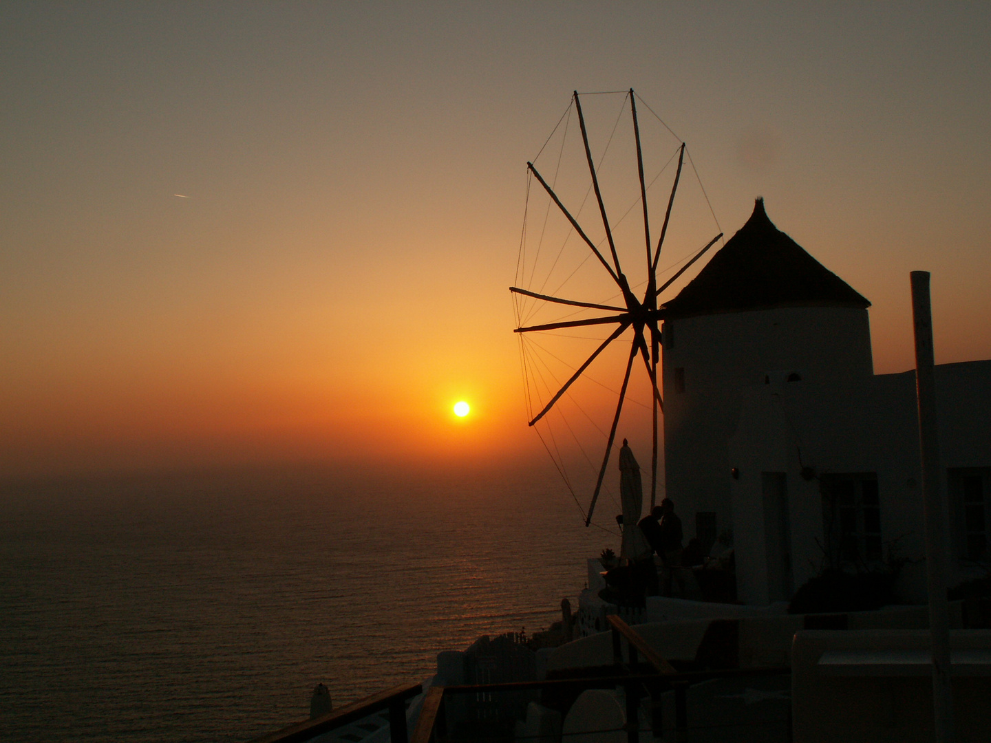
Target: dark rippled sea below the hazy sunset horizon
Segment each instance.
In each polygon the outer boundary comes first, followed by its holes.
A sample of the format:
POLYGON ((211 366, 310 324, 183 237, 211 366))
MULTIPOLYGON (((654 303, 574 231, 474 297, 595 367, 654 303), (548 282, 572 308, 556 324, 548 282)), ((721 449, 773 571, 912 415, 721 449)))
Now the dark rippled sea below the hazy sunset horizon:
POLYGON ((606 547, 539 469, 7 483, 0 740, 249 741, 546 629, 606 547))

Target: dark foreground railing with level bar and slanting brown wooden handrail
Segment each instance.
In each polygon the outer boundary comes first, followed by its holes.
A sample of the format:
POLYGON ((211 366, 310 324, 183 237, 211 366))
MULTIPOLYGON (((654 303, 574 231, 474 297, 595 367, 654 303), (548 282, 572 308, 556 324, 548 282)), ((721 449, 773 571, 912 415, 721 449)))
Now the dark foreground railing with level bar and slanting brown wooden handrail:
MULTIPOLYGON (((676 739, 684 739, 688 731, 688 689, 693 684, 699 684, 713 679, 726 679, 756 676, 781 676, 791 674, 790 667, 760 668, 760 669, 727 669, 719 671, 696 671, 679 673, 670 663, 654 652, 647 642, 631 629, 618 616, 608 617, 612 633, 613 662, 616 673, 608 676, 595 676, 579 679, 553 679, 541 682, 515 682, 511 684, 484 684, 471 686, 431 687, 427 690, 420 710, 420 716, 410 738, 410 743, 443 743, 448 737, 447 719, 445 715, 445 699, 453 694, 490 693, 498 691, 520 690, 582 690, 615 689, 622 687, 626 697, 626 740, 628 743, 639 743, 639 705, 640 691, 647 690, 651 698, 650 717, 651 729, 655 735, 660 734, 661 694, 673 690, 675 695, 675 735, 676 739), (628 648, 628 662, 622 660, 622 640, 625 639, 628 648), (653 668, 654 673, 638 674, 636 666, 639 656, 653 668)), ((606 667, 607 668, 607 667, 606 667)), ((790 735, 790 720, 789 735, 790 735)), ((394 739, 393 739, 394 740, 394 739)))

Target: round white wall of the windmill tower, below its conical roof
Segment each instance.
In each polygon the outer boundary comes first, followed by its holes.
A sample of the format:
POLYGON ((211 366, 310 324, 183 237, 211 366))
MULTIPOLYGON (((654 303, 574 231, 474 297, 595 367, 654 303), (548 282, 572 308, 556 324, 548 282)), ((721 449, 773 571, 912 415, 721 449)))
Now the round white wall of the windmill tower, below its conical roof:
POLYGON ((719 532, 733 527, 727 442, 744 387, 792 371, 811 382, 873 373, 863 309, 787 307, 677 318, 666 320, 663 332, 666 490, 686 538, 695 533, 699 511, 716 512, 719 532))

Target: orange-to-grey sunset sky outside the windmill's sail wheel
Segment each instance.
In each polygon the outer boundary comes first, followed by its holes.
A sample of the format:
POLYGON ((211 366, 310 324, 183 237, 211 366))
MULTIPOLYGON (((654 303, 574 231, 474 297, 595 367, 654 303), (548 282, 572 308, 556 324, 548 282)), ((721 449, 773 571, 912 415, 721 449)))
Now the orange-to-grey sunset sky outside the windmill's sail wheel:
POLYGON ((989 4, 7 2, 3 476, 542 456, 525 164, 629 87, 727 237, 764 196, 871 300, 876 371, 913 269, 936 362, 991 357, 989 4))

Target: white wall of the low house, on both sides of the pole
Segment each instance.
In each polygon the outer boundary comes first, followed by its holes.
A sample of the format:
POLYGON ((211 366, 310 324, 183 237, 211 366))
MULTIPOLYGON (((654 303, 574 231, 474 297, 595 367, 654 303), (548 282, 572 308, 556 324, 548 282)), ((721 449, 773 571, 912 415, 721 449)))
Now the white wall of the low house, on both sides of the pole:
MULTIPOLYGON (((903 597, 926 599, 924 522, 915 371, 832 381, 750 385, 740 390, 738 426, 727 441, 738 593, 767 603, 762 473, 784 473, 790 515, 791 564, 797 588, 824 566, 822 478, 874 473, 881 536, 913 562, 903 570, 903 597), (811 468, 803 477, 802 467, 811 468), (897 544, 895 544, 897 542, 897 544)), ((936 367, 941 485, 947 470, 991 467, 991 361, 936 367)), ((952 523, 954 505, 947 508, 952 523)), ((946 548, 956 550, 951 535, 946 548)), ((982 569, 951 561, 949 583, 982 569)))

